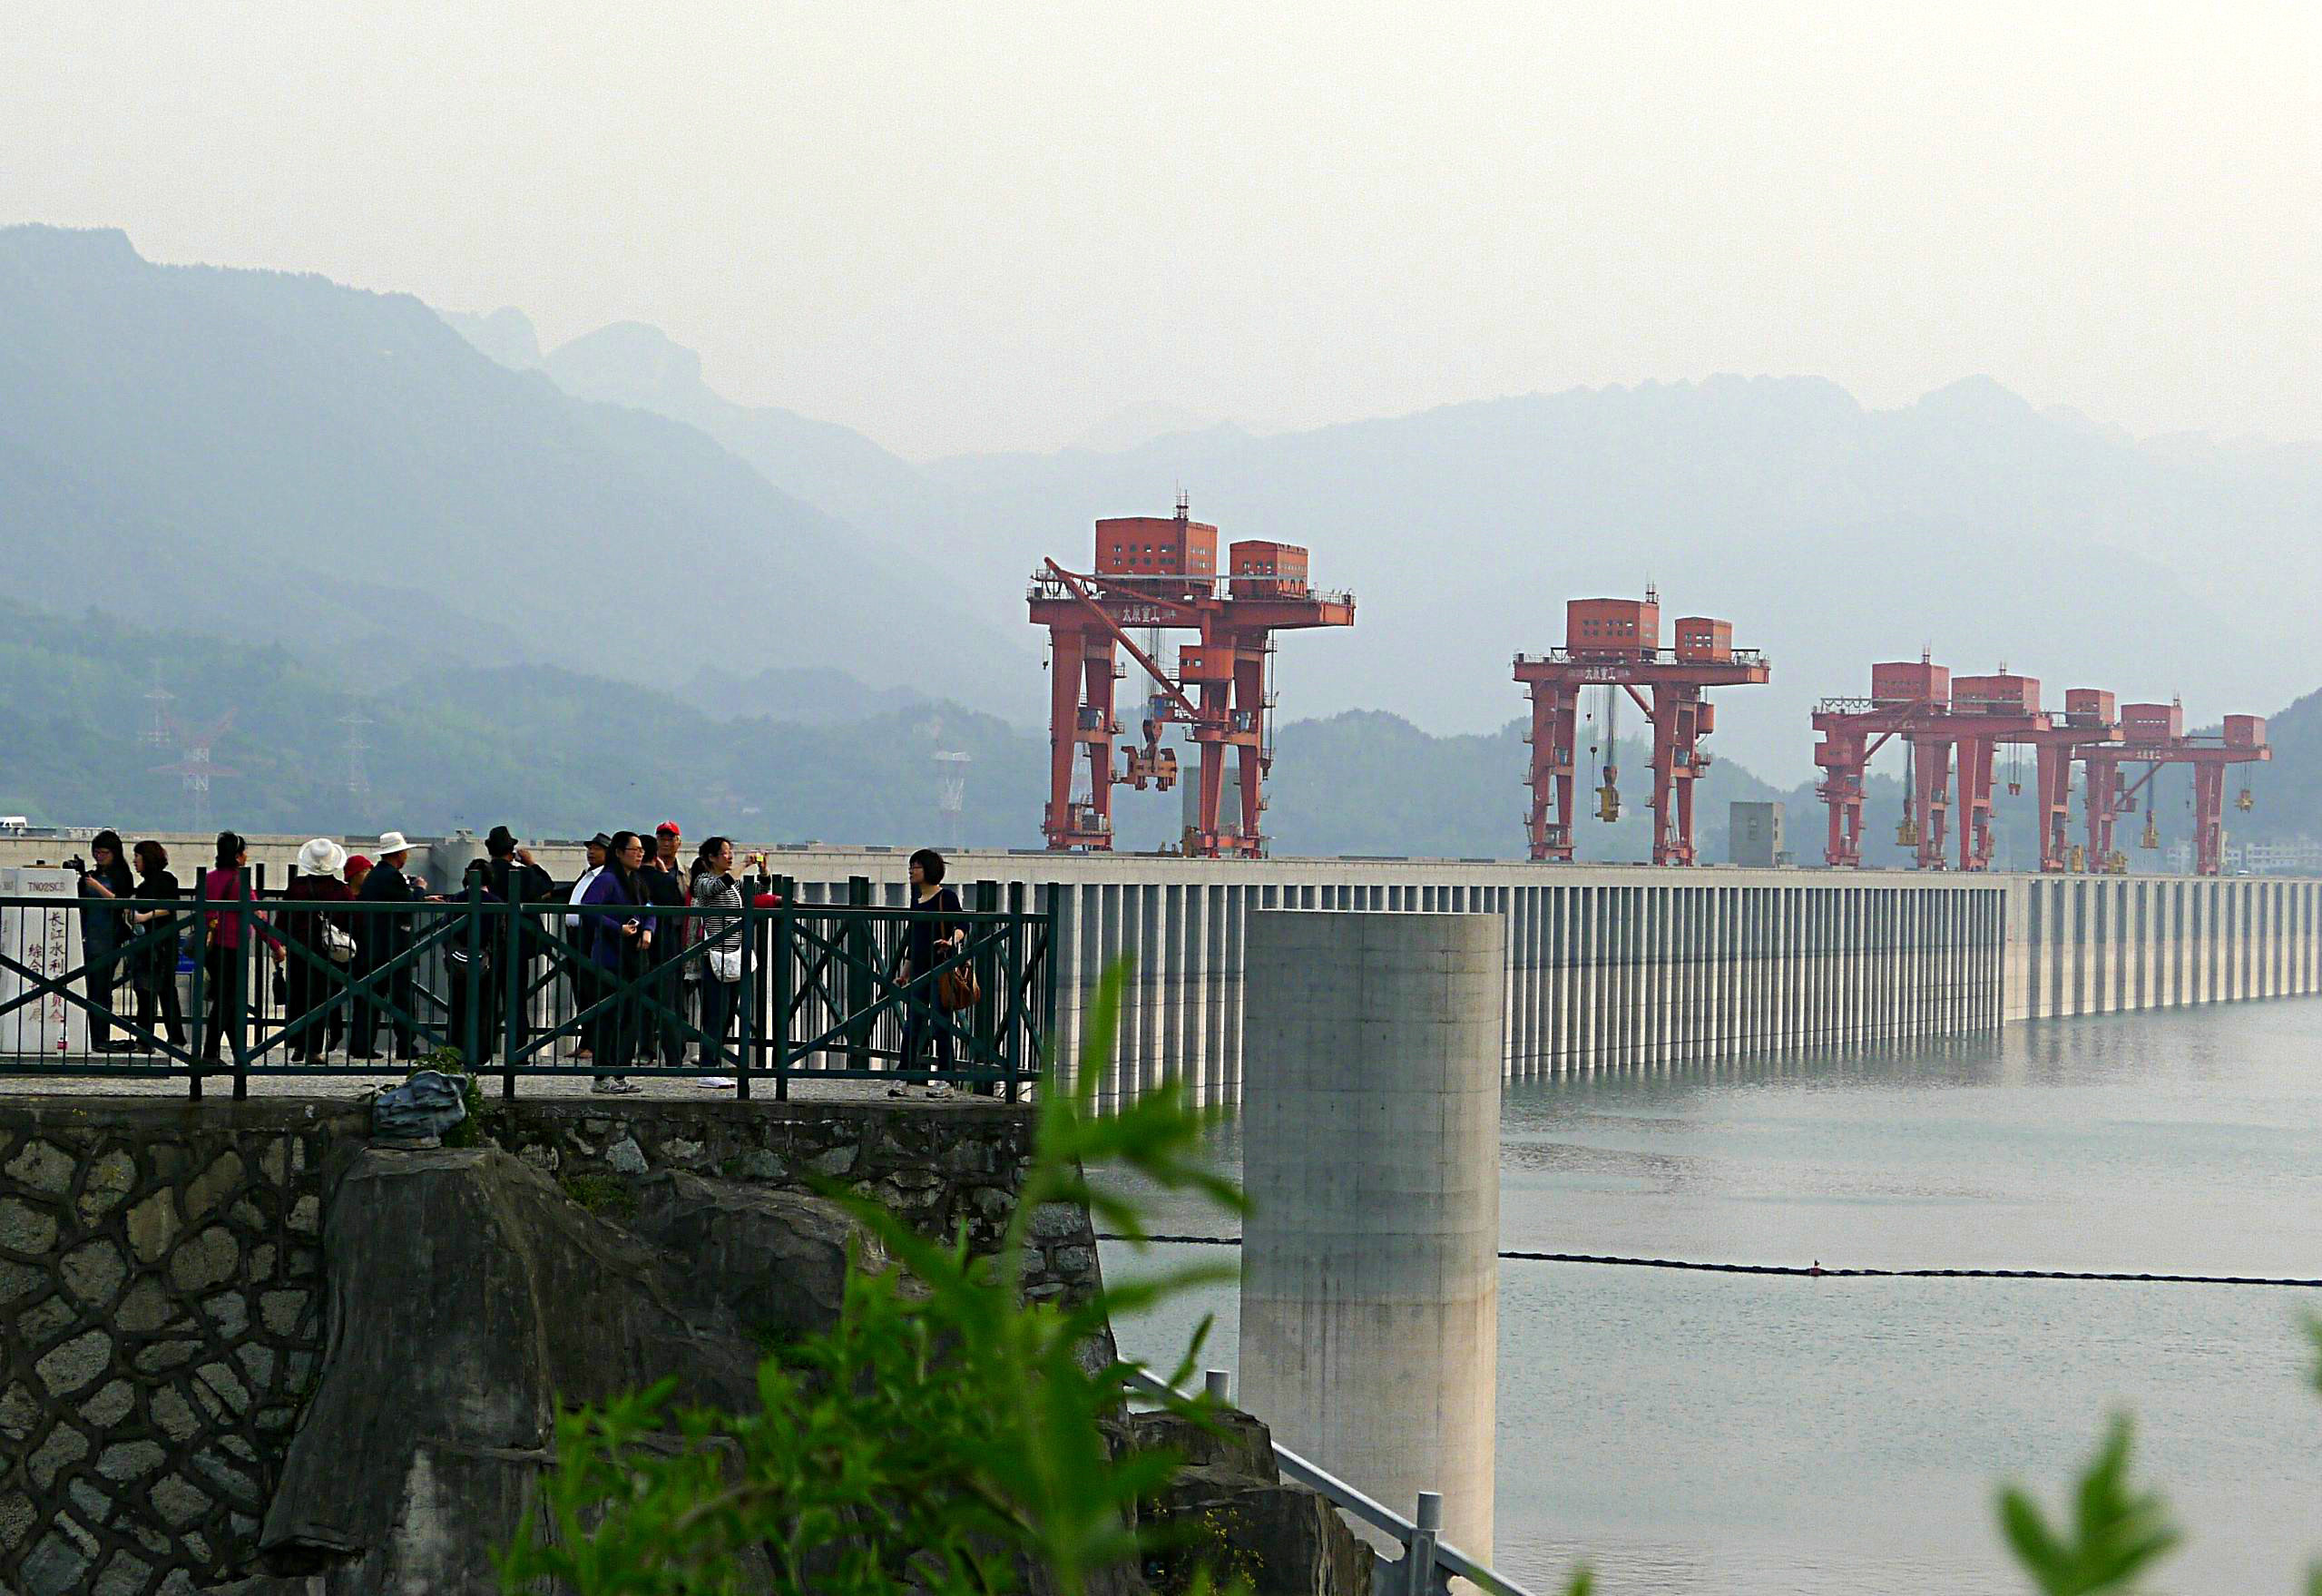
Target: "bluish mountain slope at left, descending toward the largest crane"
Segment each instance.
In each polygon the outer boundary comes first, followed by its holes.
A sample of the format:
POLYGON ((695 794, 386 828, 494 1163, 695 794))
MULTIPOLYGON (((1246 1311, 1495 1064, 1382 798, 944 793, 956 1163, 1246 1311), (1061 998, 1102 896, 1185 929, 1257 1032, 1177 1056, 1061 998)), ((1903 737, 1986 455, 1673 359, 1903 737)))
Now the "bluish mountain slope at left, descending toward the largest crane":
MULTIPOLYGON (((511 332, 502 323, 502 332, 511 332)), ((35 602, 281 639, 367 676, 843 664, 957 695, 980 620, 880 625, 910 562, 690 425, 574 400, 409 295, 0 230, 0 520, 35 602)))

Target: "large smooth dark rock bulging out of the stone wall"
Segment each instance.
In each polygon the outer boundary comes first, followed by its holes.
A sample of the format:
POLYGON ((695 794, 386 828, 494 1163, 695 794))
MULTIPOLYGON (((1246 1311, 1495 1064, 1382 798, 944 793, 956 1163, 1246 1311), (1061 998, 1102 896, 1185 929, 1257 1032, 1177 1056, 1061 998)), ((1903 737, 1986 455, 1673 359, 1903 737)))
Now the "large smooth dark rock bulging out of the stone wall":
POLYGON ((323 1382, 260 1538, 318 1596, 497 1591, 560 1406, 671 1373, 683 1403, 755 1401, 731 1308, 499 1150, 358 1155, 325 1252, 323 1382))

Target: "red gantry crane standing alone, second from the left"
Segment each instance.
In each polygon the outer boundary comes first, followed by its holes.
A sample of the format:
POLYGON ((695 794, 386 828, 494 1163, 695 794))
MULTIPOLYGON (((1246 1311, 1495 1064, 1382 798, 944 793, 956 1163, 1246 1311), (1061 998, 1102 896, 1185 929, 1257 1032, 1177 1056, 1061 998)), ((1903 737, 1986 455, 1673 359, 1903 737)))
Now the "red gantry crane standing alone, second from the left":
POLYGON ((1516 655, 1516 681, 1533 692, 1533 769, 1526 785, 1533 808, 1526 829, 1535 860, 1572 862, 1572 771, 1581 692, 1605 688, 1600 820, 1621 815, 1616 695, 1625 695, 1653 727, 1653 864, 1693 864, 1693 783, 1709 769, 1700 739, 1716 729, 1704 688, 1762 683, 1772 664, 1755 648, 1735 648, 1730 620, 1686 616, 1674 625, 1676 648, 1660 646, 1660 595, 1644 599, 1570 599, 1565 646, 1516 655), (1646 699, 1639 688, 1651 692, 1646 699))

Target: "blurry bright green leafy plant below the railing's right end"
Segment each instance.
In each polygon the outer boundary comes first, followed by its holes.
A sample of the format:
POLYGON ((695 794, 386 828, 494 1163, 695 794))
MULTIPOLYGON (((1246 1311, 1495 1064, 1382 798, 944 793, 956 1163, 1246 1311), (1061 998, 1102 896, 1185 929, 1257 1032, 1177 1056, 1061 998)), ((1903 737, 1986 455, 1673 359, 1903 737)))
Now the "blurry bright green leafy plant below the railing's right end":
MULTIPOLYGON (((543 1487, 550 1529, 525 1524, 502 1559, 502 1587, 987 1596, 1019 1589, 1038 1568, 1045 1589, 1077 1596, 1098 1570, 1138 1559, 1131 1505, 1180 1459, 1110 1452, 1105 1419, 1126 1403, 1126 1371, 1091 1368, 1089 1350, 1108 1313, 1231 1268, 1175 1271, 1101 1301, 1029 1303, 1022 1257, 1050 1203, 1084 1203, 1105 1227, 1145 1234, 1131 1201, 1091 1189, 1091 1162, 1235 1210, 1242 1196, 1196 1162, 1205 1117, 1180 1092, 1094 1115, 1119 997, 1112 969, 1089 1015, 1077 1087, 1052 1076, 1038 1094, 1031 1169, 996 1252, 973 1254, 964 1229, 929 1241, 824 1185, 899 1266, 850 1271, 838 1327, 759 1366, 755 1412, 671 1412, 662 1382, 564 1415, 543 1487), (662 1440, 669 1433, 676 1447, 662 1440)), ((1200 1333, 1180 1380, 1198 1345, 1200 1333)), ((1207 1587, 1205 1575, 1196 1582, 1207 1587)))

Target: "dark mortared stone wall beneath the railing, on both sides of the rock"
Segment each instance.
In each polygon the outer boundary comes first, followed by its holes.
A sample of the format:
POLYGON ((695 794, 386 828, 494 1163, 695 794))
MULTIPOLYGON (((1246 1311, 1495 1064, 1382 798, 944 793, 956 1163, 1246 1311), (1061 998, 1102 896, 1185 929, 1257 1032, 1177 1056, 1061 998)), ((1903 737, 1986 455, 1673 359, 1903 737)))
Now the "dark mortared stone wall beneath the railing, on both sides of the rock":
MULTIPOLYGON (((1031 1110, 490 1103, 490 1141, 620 1220, 678 1169, 834 1178, 994 1248, 1031 1110)), ((0 1099, 0 1596, 190 1596, 251 1566, 327 1336, 323 1227, 367 1143, 344 1099, 0 1099)), ((1089 1215, 1036 1215, 1026 1292, 1098 1285, 1089 1215)))

